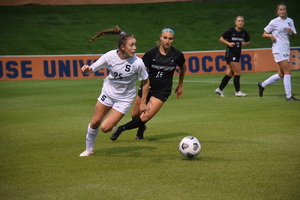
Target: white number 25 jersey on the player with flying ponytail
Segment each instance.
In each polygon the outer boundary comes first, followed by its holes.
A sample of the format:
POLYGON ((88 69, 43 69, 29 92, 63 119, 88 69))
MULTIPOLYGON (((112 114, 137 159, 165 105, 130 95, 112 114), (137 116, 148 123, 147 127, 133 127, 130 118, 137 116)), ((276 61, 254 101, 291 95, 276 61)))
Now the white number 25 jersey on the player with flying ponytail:
POLYGON ((141 58, 134 55, 122 60, 117 50, 102 55, 91 67, 93 72, 103 68, 109 70, 109 75, 103 83, 102 92, 114 99, 133 101, 136 94, 136 81, 148 78, 141 58))

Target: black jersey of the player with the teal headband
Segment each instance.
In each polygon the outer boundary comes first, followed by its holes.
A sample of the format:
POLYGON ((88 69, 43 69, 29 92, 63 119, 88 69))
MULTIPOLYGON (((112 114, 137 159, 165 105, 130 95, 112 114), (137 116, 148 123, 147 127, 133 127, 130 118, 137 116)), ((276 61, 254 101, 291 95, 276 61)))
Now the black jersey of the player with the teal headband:
POLYGON ((155 46, 145 53, 143 61, 148 68, 150 91, 171 93, 176 66, 183 66, 185 62, 183 53, 171 47, 167 55, 162 55, 159 46, 155 46))

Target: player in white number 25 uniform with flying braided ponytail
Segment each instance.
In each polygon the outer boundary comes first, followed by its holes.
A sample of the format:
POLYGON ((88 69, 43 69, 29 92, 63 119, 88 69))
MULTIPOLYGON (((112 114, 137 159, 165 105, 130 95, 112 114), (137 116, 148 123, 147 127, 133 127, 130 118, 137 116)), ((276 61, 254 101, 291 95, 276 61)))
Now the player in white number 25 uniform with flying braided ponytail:
POLYGON ((136 39, 133 35, 121 32, 119 27, 98 33, 91 41, 102 35, 119 34, 118 49, 102 55, 92 65, 84 65, 85 74, 107 68, 109 75, 105 78, 101 94, 94 109, 94 115, 87 128, 86 150, 79 156, 94 153, 94 144, 99 132, 109 132, 129 110, 136 96, 136 82, 143 82, 141 112, 146 110, 146 97, 149 91, 148 72, 141 58, 135 55, 136 39))

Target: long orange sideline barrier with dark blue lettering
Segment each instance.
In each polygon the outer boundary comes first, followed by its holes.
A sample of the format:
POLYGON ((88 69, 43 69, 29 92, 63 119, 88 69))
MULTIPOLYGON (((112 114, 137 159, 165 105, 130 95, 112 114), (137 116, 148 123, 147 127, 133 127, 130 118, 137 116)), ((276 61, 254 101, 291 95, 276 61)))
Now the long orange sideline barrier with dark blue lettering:
MULTIPOLYGON (((225 73, 225 51, 183 52, 186 74, 225 73)), ((137 54, 142 57, 143 54, 137 54)), ((80 68, 91 65, 101 54, 96 55, 53 55, 53 56, 0 56, 0 80, 49 80, 104 78, 107 69, 85 75, 80 68)), ((241 55, 242 72, 255 73, 277 71, 271 49, 243 50, 241 55)), ((300 47, 291 48, 290 66, 300 70, 300 47)), ((178 69, 175 72, 178 74, 178 69)))

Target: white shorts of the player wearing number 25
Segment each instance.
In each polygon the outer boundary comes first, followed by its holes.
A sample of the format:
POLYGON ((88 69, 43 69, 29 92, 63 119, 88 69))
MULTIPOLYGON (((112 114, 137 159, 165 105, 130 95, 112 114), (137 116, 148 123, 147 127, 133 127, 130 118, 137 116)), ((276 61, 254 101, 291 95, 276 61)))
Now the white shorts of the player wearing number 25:
POLYGON ((124 115, 128 112, 132 104, 131 101, 121 101, 119 99, 110 98, 108 95, 104 94, 103 92, 101 92, 100 96, 98 97, 98 101, 105 106, 111 107, 123 113, 124 115))

